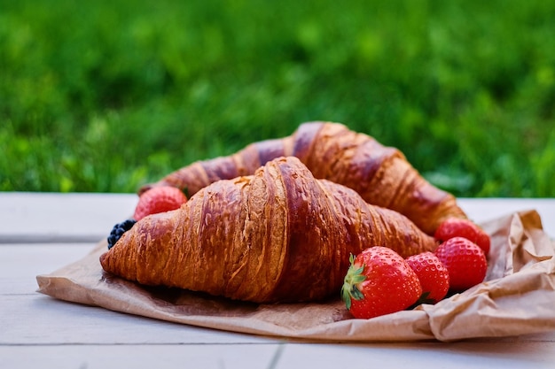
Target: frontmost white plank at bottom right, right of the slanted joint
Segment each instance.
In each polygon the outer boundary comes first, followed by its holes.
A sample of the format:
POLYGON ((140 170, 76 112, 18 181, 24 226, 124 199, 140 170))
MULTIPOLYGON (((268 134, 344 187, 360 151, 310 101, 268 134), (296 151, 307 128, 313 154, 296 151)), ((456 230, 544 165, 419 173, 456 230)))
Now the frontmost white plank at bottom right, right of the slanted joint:
POLYGON ((553 342, 455 342, 373 345, 287 344, 276 368, 504 368, 555 367, 553 342))

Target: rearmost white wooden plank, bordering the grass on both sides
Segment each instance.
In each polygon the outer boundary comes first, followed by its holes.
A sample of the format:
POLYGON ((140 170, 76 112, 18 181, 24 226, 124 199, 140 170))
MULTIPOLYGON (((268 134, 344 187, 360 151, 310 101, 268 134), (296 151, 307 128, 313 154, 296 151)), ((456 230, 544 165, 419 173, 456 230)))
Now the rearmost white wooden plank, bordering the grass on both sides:
MULTIPOLYGON (((555 235, 555 199, 460 198, 475 221, 534 209, 555 235)), ((98 242, 113 225, 129 218, 134 194, 0 193, 0 243, 98 242)))

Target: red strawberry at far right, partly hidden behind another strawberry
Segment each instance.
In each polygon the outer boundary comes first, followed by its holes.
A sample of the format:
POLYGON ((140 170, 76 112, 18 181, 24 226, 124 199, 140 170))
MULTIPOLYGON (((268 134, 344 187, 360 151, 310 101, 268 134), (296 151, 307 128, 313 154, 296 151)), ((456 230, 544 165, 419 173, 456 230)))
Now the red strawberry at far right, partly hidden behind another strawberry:
POLYGON ((480 246, 486 255, 489 253, 491 243, 489 235, 472 220, 457 218, 443 220, 440 227, 435 230, 434 238, 439 242, 445 242, 453 237, 465 237, 480 246))

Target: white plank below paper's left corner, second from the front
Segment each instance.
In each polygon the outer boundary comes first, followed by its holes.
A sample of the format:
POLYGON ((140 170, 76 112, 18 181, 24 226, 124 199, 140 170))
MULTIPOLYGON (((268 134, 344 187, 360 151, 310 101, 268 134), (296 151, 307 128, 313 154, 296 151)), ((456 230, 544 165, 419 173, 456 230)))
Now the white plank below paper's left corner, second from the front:
POLYGON ((72 304, 40 294, 0 298, 0 346, 281 342, 72 304))

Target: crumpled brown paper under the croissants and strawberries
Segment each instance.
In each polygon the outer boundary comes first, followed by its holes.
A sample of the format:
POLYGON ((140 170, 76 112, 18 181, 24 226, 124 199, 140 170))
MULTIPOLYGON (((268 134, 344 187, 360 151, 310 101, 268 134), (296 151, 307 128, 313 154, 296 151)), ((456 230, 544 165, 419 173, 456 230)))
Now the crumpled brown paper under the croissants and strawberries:
POLYGON ((38 291, 62 300, 227 331, 332 342, 501 337, 555 329, 555 243, 536 211, 481 225, 491 235, 486 281, 438 304, 352 319, 339 291, 318 304, 248 304, 176 288, 145 288, 102 270, 99 242, 88 256, 37 276, 38 291))

